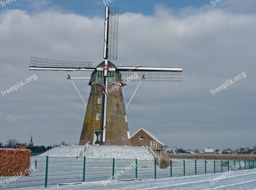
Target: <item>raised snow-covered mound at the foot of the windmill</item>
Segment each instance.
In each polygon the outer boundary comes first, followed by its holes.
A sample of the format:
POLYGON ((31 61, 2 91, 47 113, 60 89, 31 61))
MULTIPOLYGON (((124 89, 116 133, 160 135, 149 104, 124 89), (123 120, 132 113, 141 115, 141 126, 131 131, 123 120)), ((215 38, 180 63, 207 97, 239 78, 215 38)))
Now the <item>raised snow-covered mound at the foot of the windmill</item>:
MULTIPOLYGON (((83 146, 63 146, 55 147, 40 156, 50 157, 76 157, 77 153, 83 146)), ((116 158, 116 159, 135 159, 138 160, 154 160, 154 153, 148 147, 140 146, 95 146, 89 145, 81 156, 86 158, 116 158)))

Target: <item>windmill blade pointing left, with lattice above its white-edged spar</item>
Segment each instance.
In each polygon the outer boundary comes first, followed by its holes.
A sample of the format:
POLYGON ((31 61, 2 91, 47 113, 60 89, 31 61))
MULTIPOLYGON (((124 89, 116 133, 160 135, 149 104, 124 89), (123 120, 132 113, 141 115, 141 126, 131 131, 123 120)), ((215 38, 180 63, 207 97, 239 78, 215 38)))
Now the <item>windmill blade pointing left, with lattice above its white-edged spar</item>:
POLYGON ((92 62, 57 61, 31 57, 29 70, 95 71, 92 62))

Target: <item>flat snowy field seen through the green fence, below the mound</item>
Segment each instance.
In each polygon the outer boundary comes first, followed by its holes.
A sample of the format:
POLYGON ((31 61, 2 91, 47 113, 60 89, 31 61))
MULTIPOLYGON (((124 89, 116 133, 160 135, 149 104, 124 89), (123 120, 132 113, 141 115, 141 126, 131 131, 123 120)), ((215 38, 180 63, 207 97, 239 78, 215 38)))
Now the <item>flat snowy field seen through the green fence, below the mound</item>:
MULTIPOLYGON (((28 176, 18 178, 16 182, 0 186, 0 189, 15 188, 22 186, 41 186, 45 183, 45 165, 46 157, 31 157, 31 164, 35 165, 37 161, 36 171, 31 171, 28 176)), ((118 176, 119 180, 134 179, 136 178, 135 168, 132 167, 126 171, 126 167, 132 165, 135 159, 116 159, 115 160, 115 174, 124 170, 125 173, 118 176)), ((225 161, 223 161, 224 163, 225 161)), ((205 163, 207 174, 214 173, 214 161, 207 160, 185 160, 185 175, 195 176, 195 173, 205 175, 205 163), (196 167, 195 167, 196 162, 196 167)), ((239 164, 239 161, 230 161, 229 169, 233 170, 233 166, 239 164)), ((250 163, 252 167, 252 162, 250 163)), ((85 167, 85 182, 101 181, 111 178, 113 175, 113 159, 86 159, 85 167)), ((60 183, 72 183, 83 181, 83 167, 84 158, 75 157, 49 157, 48 166, 48 186, 60 183)), ((254 166, 255 167, 255 166, 254 166)), ((138 178, 151 179, 155 178, 155 165, 154 160, 138 160, 138 178)), ((249 169, 249 161, 246 161, 245 169, 249 169)), ((222 165, 223 172, 228 170, 228 166, 222 165)), ((240 169, 235 172, 240 172, 240 169)), ((244 167, 241 167, 244 170, 244 167)), ((244 170, 244 171, 246 171, 244 170)), ((215 161, 215 173, 221 172, 221 161, 215 161)), ((184 161, 172 160, 172 177, 180 177, 184 175, 184 161)), ((171 168, 160 169, 156 166, 156 178, 169 178, 171 177, 171 168)), ((5 181, 10 177, 1 177, 1 181, 5 181)), ((192 177, 193 178, 193 177, 192 177)), ((203 178, 203 177, 202 177, 203 178)), ((100 182, 95 182, 100 183, 100 182)), ((36 187, 35 187, 36 189, 36 187)))

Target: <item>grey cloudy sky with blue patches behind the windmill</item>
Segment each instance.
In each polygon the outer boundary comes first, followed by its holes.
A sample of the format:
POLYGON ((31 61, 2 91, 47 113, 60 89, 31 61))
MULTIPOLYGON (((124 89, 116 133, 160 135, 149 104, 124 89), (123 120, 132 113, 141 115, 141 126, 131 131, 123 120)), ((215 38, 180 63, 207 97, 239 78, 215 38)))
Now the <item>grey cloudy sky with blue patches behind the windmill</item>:
MULTIPOLYGON (((185 149, 256 145, 256 1, 116 0, 118 66, 182 67, 183 82, 143 82, 127 109, 130 134, 140 127, 185 149), (244 74, 242 74, 244 73, 244 74), (211 93, 226 80, 226 89, 211 93), (246 77, 244 77, 246 75, 246 77), (237 77, 236 77, 237 79, 237 77)), ((67 75, 29 71, 30 57, 103 61, 101 0, 17 0, 0 4, 0 142, 79 142, 86 108, 67 75), (36 77, 35 77, 36 75, 36 77), (13 89, 11 89, 13 90, 13 89)), ((75 81, 87 101, 88 81, 75 81)), ((137 82, 124 91, 127 104, 137 82)))

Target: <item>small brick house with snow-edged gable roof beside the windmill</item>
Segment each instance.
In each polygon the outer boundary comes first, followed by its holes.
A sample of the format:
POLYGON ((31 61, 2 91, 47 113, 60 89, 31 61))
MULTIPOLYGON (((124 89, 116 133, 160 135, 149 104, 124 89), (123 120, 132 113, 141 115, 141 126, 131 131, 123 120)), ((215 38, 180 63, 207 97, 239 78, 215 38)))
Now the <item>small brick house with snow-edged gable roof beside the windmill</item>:
POLYGON ((148 146, 151 148, 157 146, 160 147, 161 150, 168 147, 163 142, 158 140, 154 135, 152 135, 150 132, 146 131, 143 128, 140 128, 131 136, 131 143, 132 146, 148 146))

